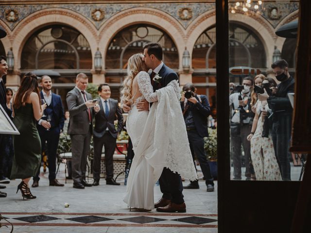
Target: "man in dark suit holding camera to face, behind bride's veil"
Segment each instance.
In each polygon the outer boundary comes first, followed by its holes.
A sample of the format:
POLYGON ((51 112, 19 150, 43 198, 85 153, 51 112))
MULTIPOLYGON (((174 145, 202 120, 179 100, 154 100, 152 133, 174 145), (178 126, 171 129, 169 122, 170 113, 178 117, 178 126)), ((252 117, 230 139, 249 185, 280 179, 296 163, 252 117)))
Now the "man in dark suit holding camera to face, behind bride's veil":
MULTIPOLYGON (((207 162, 207 154, 204 149, 204 137, 208 137, 207 117, 210 114, 209 102, 207 96, 197 95, 196 88, 192 83, 186 83, 183 87, 183 93, 180 106, 184 115, 190 150, 194 161, 194 154, 199 160, 207 192, 214 191, 214 179, 210 174, 207 162)), ((186 189, 198 189, 198 181, 190 181, 190 184, 184 186, 186 189)))

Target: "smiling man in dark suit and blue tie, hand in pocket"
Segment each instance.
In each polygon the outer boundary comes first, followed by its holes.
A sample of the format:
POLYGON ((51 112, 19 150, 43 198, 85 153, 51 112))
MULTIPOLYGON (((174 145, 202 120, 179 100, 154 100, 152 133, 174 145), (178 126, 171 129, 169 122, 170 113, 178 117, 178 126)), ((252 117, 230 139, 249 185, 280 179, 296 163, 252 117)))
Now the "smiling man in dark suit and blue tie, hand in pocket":
POLYGON ((120 185, 113 180, 113 154, 116 149, 118 133, 123 127, 123 116, 118 101, 110 98, 111 92, 108 84, 100 84, 98 87, 100 95, 100 111, 95 112, 94 139, 94 160, 93 177, 94 186, 99 185, 101 173, 101 157, 103 146, 105 149, 106 184, 120 185), (118 119, 118 129, 115 129, 114 121, 118 119))

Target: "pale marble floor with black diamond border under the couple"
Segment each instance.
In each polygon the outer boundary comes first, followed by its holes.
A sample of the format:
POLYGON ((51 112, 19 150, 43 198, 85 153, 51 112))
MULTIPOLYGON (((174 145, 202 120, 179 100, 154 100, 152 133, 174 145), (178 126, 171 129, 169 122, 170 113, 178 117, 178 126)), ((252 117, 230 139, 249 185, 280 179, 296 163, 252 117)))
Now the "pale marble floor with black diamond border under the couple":
MULTIPOLYGON (((40 177, 39 187, 31 188, 35 200, 16 194, 20 180, 6 184, 2 191, 8 197, 0 199, 0 214, 5 218, 0 220, 0 233, 11 231, 6 220, 13 224, 13 233, 217 233, 217 182, 211 193, 206 192, 204 181, 199 182, 200 189, 184 190, 187 213, 146 213, 129 212, 122 201, 126 189, 122 180, 120 186, 113 186, 102 179, 99 186, 79 190, 72 188, 71 180, 64 187, 50 187, 42 167, 40 177)), ((63 167, 57 179, 65 183, 63 167)), ((155 201, 160 197, 155 186, 155 201)))

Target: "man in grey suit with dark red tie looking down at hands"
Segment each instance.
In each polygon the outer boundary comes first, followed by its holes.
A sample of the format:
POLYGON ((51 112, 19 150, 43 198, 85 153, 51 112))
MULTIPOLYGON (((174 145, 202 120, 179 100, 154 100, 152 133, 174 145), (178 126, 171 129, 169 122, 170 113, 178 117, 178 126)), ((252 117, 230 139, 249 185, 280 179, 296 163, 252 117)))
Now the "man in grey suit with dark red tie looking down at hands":
POLYGON ((92 184, 86 183, 86 159, 90 152, 93 131, 92 111, 95 106, 91 94, 86 92, 88 79, 79 73, 76 86, 67 93, 67 105, 70 114, 68 133, 71 139, 73 187, 83 189, 92 184))

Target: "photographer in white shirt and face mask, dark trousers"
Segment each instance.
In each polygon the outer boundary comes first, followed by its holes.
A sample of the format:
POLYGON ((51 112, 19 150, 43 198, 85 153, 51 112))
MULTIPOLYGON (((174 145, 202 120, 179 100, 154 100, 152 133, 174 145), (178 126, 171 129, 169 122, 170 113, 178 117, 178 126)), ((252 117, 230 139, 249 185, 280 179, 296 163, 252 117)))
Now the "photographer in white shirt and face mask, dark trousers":
POLYGON ((245 77, 242 82, 243 89, 240 93, 233 93, 229 96, 231 107, 231 146, 233 156, 233 179, 241 180, 241 145, 243 146, 245 156, 245 177, 251 179, 251 152, 250 142, 247 136, 251 133, 251 122, 254 113, 251 111, 251 90, 253 89, 253 79, 245 77))

